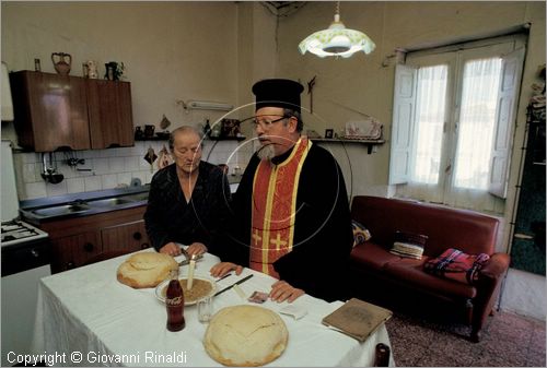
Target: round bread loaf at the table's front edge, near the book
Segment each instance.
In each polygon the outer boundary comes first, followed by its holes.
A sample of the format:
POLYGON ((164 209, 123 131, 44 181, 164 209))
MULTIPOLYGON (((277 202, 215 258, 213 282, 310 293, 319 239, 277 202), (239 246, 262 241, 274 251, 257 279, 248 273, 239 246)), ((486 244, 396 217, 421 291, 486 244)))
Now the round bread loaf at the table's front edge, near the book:
POLYGON ((234 306, 213 316, 203 345, 211 358, 225 366, 257 367, 277 359, 288 340, 289 331, 276 312, 234 306))

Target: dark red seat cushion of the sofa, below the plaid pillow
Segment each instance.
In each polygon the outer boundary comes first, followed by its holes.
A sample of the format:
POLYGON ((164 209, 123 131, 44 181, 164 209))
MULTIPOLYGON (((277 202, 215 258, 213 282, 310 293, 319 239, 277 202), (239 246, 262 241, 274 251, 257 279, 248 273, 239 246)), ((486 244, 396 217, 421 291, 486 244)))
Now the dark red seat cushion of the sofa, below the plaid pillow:
POLYGON ((393 280, 398 280, 400 283, 441 296, 474 298, 477 295, 477 289, 472 285, 423 272, 423 264, 428 260, 428 257, 423 257, 421 260, 399 258, 399 261, 392 261, 384 265, 384 275, 393 276, 393 280))

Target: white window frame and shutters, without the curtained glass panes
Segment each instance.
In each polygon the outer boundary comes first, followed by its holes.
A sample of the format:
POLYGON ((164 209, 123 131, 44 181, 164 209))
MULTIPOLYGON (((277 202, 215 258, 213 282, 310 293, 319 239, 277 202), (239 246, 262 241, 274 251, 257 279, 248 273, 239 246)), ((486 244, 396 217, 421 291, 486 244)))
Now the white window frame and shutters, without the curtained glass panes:
MULTIPOLYGON (((507 197, 507 186, 509 182, 510 158, 512 153, 512 141, 514 135, 514 128, 516 124, 516 109, 519 96, 521 91, 521 79, 523 71, 523 61, 526 47, 526 35, 514 34, 510 36, 493 37, 489 39, 467 41, 463 44, 450 45, 438 47, 428 50, 418 50, 408 52, 403 64, 396 66, 395 69, 395 86, 394 86, 394 108, 393 108, 393 123, 392 123, 392 140, 391 140, 391 157, 389 157, 389 185, 396 186, 396 197, 410 197, 418 200, 426 200, 429 202, 444 203, 453 206, 470 207, 478 211, 493 211, 502 212, 504 206, 504 198, 507 197), (485 201, 478 201, 475 205, 474 200, 461 200, 458 190, 454 187, 454 173, 455 173, 455 158, 457 149, 457 134, 459 121, 459 105, 462 100, 463 90, 463 69, 465 61, 474 60, 480 57, 491 57, 494 55, 511 56, 514 55, 514 62, 519 64, 517 71, 514 73, 513 83, 516 86, 512 93, 511 106, 509 108, 509 119, 503 123, 507 129, 503 131, 507 138, 504 143, 503 156, 496 156, 492 150, 492 159, 494 157, 503 157, 503 170, 498 170, 497 188, 489 190, 490 194, 485 197, 497 197, 488 199, 489 204, 485 201), (415 158, 415 143, 417 142, 417 123, 416 123, 416 107, 417 107, 417 75, 418 69, 421 67, 434 66, 445 63, 449 68, 447 91, 446 91, 446 106, 444 117, 444 128, 442 135, 442 152, 440 159, 440 178, 439 182, 434 186, 423 185, 421 191, 424 194, 416 194, 416 191, 406 191, 405 187, 410 187, 410 170, 414 167, 415 158), (520 69, 519 69, 520 68, 520 69), (404 98, 401 96, 404 93, 404 98), (499 198, 499 199, 498 199, 499 198)), ((502 80, 505 76, 504 68, 507 62, 503 61, 502 66, 502 80)), ((515 69, 515 70, 516 70, 515 69)), ((503 83, 503 82, 502 82, 503 83)), ((500 96, 500 94, 498 94, 500 96)), ((500 105, 500 102, 498 102, 500 105)), ((500 106, 497 106, 497 121, 494 141, 498 139, 500 132, 499 111, 500 106)), ((501 152, 500 151, 500 152, 501 152)), ((492 175, 492 162, 490 163, 489 174, 492 175)), ((489 181, 492 178, 490 177, 489 181)), ((419 192, 419 190, 418 190, 419 192)), ((476 197, 477 193, 469 189, 470 198, 476 197)), ((479 191, 476 191, 479 192, 479 191)))

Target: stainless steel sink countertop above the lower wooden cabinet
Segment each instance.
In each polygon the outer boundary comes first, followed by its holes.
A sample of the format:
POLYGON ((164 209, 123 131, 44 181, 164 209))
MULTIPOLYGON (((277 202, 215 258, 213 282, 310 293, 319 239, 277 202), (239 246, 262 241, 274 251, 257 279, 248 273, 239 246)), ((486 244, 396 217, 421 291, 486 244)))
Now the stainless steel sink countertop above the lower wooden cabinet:
POLYGON ((82 217, 97 213, 127 210, 136 206, 146 205, 148 203, 148 198, 143 198, 143 195, 140 195, 138 200, 131 200, 115 205, 88 207, 88 202, 103 200, 103 199, 104 200, 119 199, 141 193, 148 193, 150 185, 146 185, 146 186, 116 188, 107 190, 97 190, 92 192, 70 193, 63 195, 24 200, 20 201, 19 211, 24 221, 31 224, 39 225, 44 222, 49 222, 49 221, 82 217), (60 213, 59 211, 59 213, 50 215, 39 214, 39 210, 55 209, 60 206, 70 207, 78 205, 79 206, 84 205, 86 207, 85 209, 82 207, 81 211, 67 211, 66 213, 60 213))

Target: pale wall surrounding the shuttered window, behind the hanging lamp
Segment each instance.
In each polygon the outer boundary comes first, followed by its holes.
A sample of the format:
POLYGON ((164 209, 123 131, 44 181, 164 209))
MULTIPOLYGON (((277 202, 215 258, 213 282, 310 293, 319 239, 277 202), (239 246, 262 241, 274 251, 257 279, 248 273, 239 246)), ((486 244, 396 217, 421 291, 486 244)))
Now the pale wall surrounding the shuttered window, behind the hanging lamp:
MULTIPOLYGON (((331 2, 310 2, 293 16, 280 19, 278 74, 304 82, 317 76, 314 114, 304 117, 309 129, 321 134, 325 128, 338 131, 347 120, 359 119, 361 114, 374 116, 384 123, 387 142, 379 146, 374 154, 368 155, 364 149, 357 146, 333 149, 340 163, 348 162, 346 154, 349 156, 351 171, 349 165, 341 166, 347 181, 351 181, 354 195, 389 195, 393 192, 387 185, 387 177, 397 48, 412 49, 451 43, 532 23, 517 109, 509 193, 497 247, 498 250, 508 251, 529 86, 536 81, 538 66, 545 63, 545 2, 342 1, 341 21, 348 28, 366 33, 376 44, 376 49, 371 55, 359 54, 350 59, 319 59, 310 54, 300 55, 299 43, 311 33, 326 28, 334 11, 331 2), (351 176, 352 180, 349 180, 351 176)), ((303 102, 304 106, 310 106, 307 98, 303 102)), ((505 293, 510 295, 502 299, 503 308, 545 320, 545 277, 512 272, 505 293), (515 297, 513 293, 519 293, 520 288, 514 285, 522 284, 534 286, 521 288, 526 295, 515 297)))

